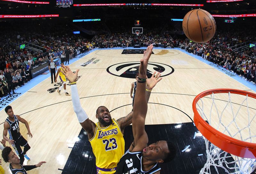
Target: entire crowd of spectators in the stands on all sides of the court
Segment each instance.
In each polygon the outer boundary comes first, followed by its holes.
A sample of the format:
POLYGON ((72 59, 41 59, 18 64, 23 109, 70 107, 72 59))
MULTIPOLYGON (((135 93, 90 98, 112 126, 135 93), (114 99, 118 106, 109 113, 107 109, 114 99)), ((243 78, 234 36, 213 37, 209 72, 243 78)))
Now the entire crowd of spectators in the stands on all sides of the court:
MULTIPOLYGON (((52 29, 52 28, 51 28, 52 29)), ((56 29, 56 28, 55 28, 56 29)), ((143 34, 139 34, 138 40, 141 46, 147 47, 153 44, 154 47, 173 48, 180 47, 189 53, 197 54, 202 58, 216 63, 227 70, 242 76, 244 79, 256 83, 255 47, 245 50, 243 53, 233 52, 228 47, 237 45, 244 41, 256 40, 254 33, 244 35, 244 32, 217 32, 214 38, 206 43, 199 44, 181 39, 169 32, 159 33, 161 29, 155 28, 153 31, 144 29, 143 34)), ((25 85, 30 79, 29 69, 43 62, 49 62, 51 58, 60 57, 64 62, 65 51, 69 47, 70 59, 76 56, 76 50, 80 48, 81 52, 87 52, 94 48, 113 48, 113 47, 132 47, 135 35, 128 29, 123 32, 113 33, 111 35, 95 35, 92 39, 87 39, 82 35, 74 35, 70 29, 63 29, 61 33, 56 32, 34 32, 2 36, 0 41, 0 97, 9 95, 12 89, 8 87, 5 73, 8 69, 12 76, 13 89, 25 85), (20 49, 12 43, 25 44, 29 42, 43 48, 42 52, 20 49)), ((13 91, 14 93, 14 91, 13 91)))

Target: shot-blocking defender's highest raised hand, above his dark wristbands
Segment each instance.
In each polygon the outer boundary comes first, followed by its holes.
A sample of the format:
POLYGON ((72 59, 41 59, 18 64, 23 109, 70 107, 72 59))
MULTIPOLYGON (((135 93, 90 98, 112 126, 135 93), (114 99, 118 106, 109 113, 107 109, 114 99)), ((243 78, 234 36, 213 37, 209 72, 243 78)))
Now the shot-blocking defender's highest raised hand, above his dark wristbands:
POLYGON ((139 76, 140 78, 147 78, 147 67, 148 67, 148 60, 152 54, 153 45, 149 45, 147 50, 144 51, 143 59, 140 60, 140 67, 139 67, 139 76))

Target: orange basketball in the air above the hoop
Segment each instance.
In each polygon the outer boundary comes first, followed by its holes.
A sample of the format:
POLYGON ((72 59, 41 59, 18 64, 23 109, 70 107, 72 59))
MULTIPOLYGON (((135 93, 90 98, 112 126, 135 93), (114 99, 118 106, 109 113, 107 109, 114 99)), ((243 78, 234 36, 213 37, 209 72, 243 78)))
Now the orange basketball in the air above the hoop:
POLYGON ((203 43, 214 36, 216 22, 208 11, 195 9, 189 11, 183 18, 182 29, 188 39, 203 43))

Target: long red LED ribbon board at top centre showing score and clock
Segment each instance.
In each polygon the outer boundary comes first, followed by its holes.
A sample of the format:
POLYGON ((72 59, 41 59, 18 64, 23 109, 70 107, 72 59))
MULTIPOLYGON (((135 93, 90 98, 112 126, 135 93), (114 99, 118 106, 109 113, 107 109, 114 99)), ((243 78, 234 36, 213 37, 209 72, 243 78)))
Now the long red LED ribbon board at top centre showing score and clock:
POLYGON ((120 6, 120 5, 154 5, 154 6, 204 6, 204 4, 147 4, 147 3, 122 3, 122 4, 74 4, 74 6, 120 6))

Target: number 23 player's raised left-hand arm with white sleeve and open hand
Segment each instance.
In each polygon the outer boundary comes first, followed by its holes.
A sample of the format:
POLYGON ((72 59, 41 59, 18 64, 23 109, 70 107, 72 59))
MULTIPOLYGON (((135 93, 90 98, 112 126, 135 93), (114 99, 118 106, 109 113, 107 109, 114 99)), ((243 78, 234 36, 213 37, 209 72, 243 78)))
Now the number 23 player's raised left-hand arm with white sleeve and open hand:
MULTIPOLYGON (((76 87, 76 78, 79 69, 76 70, 76 73, 73 73, 68 66, 62 66, 63 71, 61 71, 68 79, 71 84, 71 97, 73 103, 73 109, 76 113, 76 117, 80 123, 80 125, 87 132, 88 138, 91 139, 94 135, 96 125, 94 122, 88 119, 88 116, 84 109, 81 106, 77 87, 76 87)), ((59 71, 59 70, 58 70, 59 71)))

